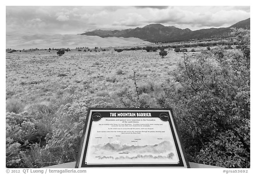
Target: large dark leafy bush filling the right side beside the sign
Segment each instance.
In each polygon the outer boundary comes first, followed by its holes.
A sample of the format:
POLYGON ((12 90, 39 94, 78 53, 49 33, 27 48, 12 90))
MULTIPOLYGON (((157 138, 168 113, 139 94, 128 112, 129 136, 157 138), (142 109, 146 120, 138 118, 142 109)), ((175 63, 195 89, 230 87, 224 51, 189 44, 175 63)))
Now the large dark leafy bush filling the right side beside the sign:
MULTIPOLYGON (((249 48, 243 33, 236 39, 249 48)), ((159 100, 174 109, 190 161, 250 167, 250 55, 243 51, 184 58, 165 88, 168 98, 159 100)))

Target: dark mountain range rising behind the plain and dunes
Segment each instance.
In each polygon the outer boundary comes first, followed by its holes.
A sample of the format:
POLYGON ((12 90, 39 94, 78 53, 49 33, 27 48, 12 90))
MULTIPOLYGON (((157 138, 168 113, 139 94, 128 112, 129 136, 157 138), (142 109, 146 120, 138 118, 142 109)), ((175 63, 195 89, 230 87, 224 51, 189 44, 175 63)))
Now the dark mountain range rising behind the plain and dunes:
POLYGON ((162 24, 149 24, 145 27, 125 30, 94 30, 80 35, 106 37, 139 38, 148 42, 180 42, 192 39, 226 38, 229 36, 230 28, 250 29, 250 18, 242 20, 230 27, 208 28, 192 31, 189 28, 180 29, 174 26, 162 24))

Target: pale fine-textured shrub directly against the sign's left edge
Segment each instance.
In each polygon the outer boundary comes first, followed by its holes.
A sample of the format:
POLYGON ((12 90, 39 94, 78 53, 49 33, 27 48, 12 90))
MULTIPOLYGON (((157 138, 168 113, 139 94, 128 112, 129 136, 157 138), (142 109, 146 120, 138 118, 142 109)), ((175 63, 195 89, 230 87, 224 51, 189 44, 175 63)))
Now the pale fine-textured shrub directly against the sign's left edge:
POLYGON ((61 105, 53 119, 52 134, 47 135, 48 153, 59 163, 72 162, 77 158, 78 144, 82 137, 87 115, 88 98, 61 105))

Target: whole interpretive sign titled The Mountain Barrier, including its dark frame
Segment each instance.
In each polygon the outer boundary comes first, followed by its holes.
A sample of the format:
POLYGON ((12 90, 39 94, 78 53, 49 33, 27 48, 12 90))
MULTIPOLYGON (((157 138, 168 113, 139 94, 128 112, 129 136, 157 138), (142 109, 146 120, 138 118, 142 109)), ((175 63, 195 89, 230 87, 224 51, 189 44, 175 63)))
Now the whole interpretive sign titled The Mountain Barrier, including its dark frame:
POLYGON ((76 167, 189 164, 172 109, 89 108, 76 167))

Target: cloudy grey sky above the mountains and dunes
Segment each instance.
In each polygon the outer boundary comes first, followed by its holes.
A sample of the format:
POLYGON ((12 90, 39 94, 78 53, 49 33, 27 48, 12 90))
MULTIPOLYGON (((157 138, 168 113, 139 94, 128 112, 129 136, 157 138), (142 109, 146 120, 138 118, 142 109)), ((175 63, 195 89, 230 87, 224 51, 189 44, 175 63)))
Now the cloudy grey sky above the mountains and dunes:
POLYGON ((6 6, 6 32, 79 34, 150 23, 198 30, 247 18, 249 6, 6 6))

